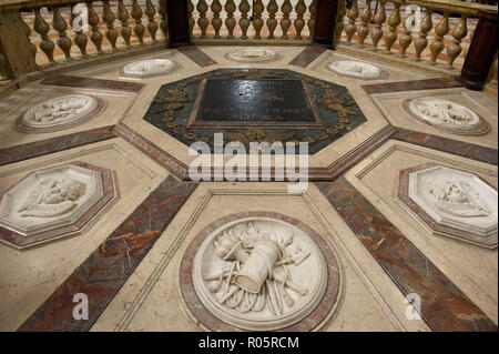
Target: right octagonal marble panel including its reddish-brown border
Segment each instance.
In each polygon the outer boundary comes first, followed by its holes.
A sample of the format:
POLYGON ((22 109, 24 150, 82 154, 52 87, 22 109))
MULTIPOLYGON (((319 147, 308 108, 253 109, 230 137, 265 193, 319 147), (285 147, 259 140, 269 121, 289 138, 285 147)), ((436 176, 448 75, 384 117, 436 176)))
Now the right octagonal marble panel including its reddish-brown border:
POLYGON ((434 163, 406 169, 399 196, 434 231, 497 245, 498 193, 478 175, 434 163))

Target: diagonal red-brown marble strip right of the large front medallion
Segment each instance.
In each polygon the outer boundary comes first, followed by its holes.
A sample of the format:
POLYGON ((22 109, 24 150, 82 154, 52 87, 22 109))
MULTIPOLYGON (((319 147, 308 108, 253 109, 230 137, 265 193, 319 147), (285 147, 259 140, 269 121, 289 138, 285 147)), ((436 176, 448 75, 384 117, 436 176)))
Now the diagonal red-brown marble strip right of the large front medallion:
POLYGON ((497 325, 346 178, 316 185, 403 294, 420 296, 421 317, 431 330, 497 332, 497 325))

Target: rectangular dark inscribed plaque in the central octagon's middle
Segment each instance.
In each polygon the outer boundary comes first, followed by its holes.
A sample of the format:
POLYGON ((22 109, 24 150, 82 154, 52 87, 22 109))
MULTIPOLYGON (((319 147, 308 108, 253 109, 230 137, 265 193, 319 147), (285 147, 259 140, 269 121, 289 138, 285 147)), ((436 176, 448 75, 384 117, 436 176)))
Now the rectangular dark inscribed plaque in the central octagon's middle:
POLYGON ((302 80, 223 80, 201 83, 187 127, 320 127, 302 80))

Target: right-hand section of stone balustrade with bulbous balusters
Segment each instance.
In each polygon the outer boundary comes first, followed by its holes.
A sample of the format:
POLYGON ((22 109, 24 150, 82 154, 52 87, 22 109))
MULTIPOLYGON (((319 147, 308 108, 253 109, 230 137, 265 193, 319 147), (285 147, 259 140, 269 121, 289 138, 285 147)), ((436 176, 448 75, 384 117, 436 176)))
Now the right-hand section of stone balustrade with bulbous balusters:
POLYGON ((456 72, 462 67, 479 10, 496 8, 455 0, 348 2, 336 37, 339 43, 456 72))

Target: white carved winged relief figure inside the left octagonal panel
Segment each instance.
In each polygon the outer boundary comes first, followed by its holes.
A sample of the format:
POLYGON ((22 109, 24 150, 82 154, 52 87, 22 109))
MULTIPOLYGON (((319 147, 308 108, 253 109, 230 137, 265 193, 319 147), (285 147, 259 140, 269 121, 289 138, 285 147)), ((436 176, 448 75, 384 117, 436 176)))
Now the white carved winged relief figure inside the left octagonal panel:
POLYGON ((18 212, 21 216, 53 218, 74 208, 85 193, 85 184, 72 179, 48 178, 28 194, 18 212))

